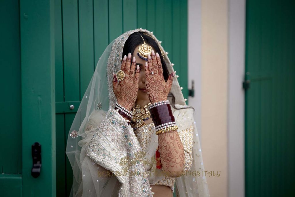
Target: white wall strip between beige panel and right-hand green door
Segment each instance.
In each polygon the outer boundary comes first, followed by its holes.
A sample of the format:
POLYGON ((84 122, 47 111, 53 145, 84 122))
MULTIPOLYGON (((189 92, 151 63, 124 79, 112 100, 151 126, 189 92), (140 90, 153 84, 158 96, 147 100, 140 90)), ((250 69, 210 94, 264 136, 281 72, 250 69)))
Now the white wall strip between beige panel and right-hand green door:
POLYGON ((245 196, 245 0, 229 0, 228 196, 245 196))

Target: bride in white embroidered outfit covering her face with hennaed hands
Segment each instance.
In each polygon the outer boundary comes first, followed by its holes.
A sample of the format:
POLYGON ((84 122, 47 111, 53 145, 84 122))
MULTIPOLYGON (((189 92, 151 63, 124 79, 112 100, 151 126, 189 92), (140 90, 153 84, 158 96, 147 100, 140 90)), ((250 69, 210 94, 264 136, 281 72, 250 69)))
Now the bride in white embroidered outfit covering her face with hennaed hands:
POLYGON ((70 196, 209 196, 199 136, 153 32, 125 32, 96 65, 68 135, 70 196))

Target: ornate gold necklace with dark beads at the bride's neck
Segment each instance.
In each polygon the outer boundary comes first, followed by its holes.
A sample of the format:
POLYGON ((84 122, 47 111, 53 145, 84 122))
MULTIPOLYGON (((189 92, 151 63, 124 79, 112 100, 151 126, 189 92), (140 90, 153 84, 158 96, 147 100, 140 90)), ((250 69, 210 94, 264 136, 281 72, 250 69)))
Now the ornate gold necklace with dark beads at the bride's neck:
POLYGON ((130 125, 134 130, 145 125, 146 120, 150 118, 150 111, 148 110, 148 106, 151 103, 149 102, 147 105, 140 107, 140 105, 136 105, 132 108, 133 118, 131 120, 130 125))

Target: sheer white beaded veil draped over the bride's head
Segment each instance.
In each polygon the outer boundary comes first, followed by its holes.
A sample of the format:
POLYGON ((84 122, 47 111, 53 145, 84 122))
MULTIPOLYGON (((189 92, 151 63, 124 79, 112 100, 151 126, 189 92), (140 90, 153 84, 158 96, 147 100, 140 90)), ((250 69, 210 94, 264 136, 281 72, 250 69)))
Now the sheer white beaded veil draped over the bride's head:
MULTIPOLYGON (((95 128, 104 120, 106 112, 114 108, 116 97, 112 88, 112 73, 116 73, 121 68, 125 41, 132 33, 139 31, 145 32, 156 41, 164 53, 168 72, 174 71, 160 42, 148 30, 140 28, 125 32, 107 46, 99 58, 68 134, 66 154, 73 169, 73 186, 70 196, 118 196, 118 193, 114 191, 120 187, 120 182, 115 176, 97 178, 97 174, 105 169, 86 156, 85 147, 94 135, 95 128)), ((176 77, 173 79, 171 93, 175 96, 175 104, 186 105, 176 77)), ((203 171, 199 136, 194 124, 193 164, 189 172, 176 178, 178 195, 181 197, 209 196, 207 179, 203 176, 203 171)))

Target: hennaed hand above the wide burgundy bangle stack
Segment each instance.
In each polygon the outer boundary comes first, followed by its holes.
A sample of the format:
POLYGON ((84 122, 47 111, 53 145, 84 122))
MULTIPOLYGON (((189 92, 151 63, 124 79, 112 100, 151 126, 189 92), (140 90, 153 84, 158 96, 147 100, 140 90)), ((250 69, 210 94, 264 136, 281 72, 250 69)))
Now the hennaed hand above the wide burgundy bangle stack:
POLYGON ((151 103, 167 100, 175 73, 172 72, 165 82, 160 55, 152 50, 152 57, 148 55, 148 62, 145 62, 145 86, 151 103))

